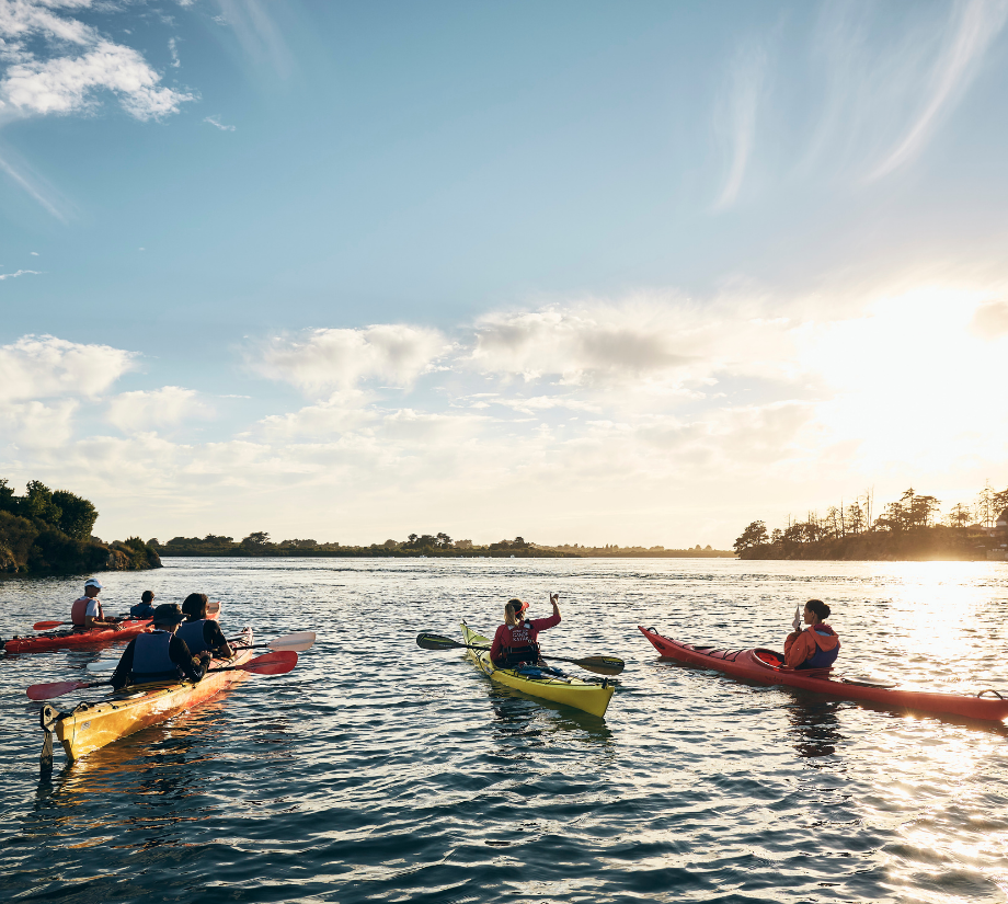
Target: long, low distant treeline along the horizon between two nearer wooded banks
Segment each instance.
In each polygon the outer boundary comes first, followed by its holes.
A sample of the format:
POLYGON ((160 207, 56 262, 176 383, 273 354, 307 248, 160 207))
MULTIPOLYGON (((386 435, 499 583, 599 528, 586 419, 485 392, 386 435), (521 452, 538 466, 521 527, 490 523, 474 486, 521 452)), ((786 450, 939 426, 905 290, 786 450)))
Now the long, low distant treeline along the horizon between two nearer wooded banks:
POLYGON ((199 537, 174 537, 167 543, 157 539, 149 541, 161 556, 287 556, 296 558, 345 556, 347 558, 494 558, 506 559, 577 559, 577 558, 654 558, 654 557, 734 557, 734 552, 707 547, 700 549, 665 549, 664 547, 583 547, 541 546, 515 537, 513 540, 500 540, 495 543, 479 546, 472 540, 453 540, 447 534, 411 534, 405 540, 386 540, 370 546, 343 546, 337 542, 318 542, 317 540, 282 540, 274 542, 270 535, 260 530, 241 540, 217 534, 199 537))

